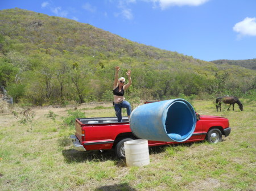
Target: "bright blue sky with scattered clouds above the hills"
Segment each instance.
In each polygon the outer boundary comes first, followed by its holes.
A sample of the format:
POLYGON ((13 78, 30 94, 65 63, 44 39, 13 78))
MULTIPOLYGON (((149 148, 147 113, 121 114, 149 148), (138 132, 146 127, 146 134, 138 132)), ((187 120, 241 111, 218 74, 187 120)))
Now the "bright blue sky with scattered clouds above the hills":
POLYGON ((200 60, 256 58, 255 0, 0 0, 200 60))

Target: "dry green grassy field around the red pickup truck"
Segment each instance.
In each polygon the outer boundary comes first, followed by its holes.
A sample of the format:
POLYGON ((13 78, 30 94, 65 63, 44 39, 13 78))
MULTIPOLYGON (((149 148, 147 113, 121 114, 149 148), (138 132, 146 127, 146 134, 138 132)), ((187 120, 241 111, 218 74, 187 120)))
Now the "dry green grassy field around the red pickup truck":
MULTIPOLYGON (((32 126, 9 111, 0 113, 1 190, 256 190, 256 103, 244 111, 216 112, 213 100, 193 100, 200 114, 227 117, 232 131, 215 145, 198 142, 150 148, 150 164, 126 167, 113 151, 88 153, 71 148, 74 128, 61 125, 68 109, 42 107, 32 126), (57 114, 56 120, 46 115, 57 114)), ((77 107, 86 117, 114 116, 111 103, 77 107)))

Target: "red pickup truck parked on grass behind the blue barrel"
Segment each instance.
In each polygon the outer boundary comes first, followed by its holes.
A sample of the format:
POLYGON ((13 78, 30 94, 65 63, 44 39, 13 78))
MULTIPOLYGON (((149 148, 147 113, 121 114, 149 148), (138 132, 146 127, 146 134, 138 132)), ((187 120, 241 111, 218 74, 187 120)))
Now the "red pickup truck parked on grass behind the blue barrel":
MULTIPOLYGON (((77 118, 76 134, 70 135, 73 146, 79 151, 114 149, 118 158, 125 157, 124 142, 139 139, 131 132, 129 119, 117 117, 77 118)), ((222 135, 230 134, 228 118, 197 114, 196 128, 185 142, 196 142, 206 139, 210 143, 222 140, 222 135)), ((183 142, 161 142, 148 140, 148 146, 179 144, 183 142)))

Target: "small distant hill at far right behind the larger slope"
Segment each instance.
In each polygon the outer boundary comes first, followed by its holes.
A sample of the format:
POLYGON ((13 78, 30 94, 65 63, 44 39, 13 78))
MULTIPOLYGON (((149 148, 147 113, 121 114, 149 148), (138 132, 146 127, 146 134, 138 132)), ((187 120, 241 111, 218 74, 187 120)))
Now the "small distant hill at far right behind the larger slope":
POLYGON ((247 69, 256 70, 256 58, 248 59, 248 60, 214 60, 210 62, 216 63, 218 65, 227 63, 229 65, 237 65, 237 66, 245 67, 247 69))

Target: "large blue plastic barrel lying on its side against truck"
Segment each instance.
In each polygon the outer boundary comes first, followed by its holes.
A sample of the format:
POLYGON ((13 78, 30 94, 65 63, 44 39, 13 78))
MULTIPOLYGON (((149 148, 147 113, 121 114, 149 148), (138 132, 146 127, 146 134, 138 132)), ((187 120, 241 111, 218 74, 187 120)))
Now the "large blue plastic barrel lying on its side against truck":
POLYGON ((130 128, 141 139, 183 142, 196 128, 196 113, 184 99, 144 104, 131 112, 130 128))

